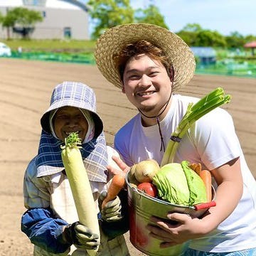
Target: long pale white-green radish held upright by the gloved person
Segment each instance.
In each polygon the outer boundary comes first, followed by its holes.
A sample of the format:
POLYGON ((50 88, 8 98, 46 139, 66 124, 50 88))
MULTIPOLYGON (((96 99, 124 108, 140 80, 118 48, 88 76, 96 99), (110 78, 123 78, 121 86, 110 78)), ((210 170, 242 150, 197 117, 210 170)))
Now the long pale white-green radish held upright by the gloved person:
MULTIPOLYGON (((78 144, 80 144, 78 134, 74 132, 69 134, 65 139, 65 146, 62 146, 61 158, 70 183, 79 222, 90 228, 92 233, 99 235, 100 240, 97 208, 78 144)), ((94 256, 97 250, 98 247, 95 250, 87 250, 87 253, 94 256)))

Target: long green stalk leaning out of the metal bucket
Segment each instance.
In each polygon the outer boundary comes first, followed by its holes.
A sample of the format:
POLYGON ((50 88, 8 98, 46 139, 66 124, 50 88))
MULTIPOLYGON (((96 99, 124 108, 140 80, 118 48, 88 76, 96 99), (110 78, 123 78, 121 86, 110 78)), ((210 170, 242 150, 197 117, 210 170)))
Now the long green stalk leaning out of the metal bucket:
POLYGON ((174 161, 178 143, 196 120, 203 117, 203 115, 211 110, 214 110, 216 107, 220 107, 221 105, 230 102, 230 99, 231 96, 225 95, 223 88, 218 87, 198 102, 194 104, 190 103, 186 110, 186 114, 181 119, 181 122, 178 124, 175 131, 171 134, 171 139, 164 152, 161 166, 174 161))

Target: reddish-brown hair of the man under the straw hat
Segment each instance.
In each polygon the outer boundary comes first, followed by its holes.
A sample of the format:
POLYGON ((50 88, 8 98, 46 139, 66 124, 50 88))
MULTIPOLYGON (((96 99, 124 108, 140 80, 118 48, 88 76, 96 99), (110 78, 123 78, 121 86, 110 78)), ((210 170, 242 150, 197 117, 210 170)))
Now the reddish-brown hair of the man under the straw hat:
POLYGON ((166 68, 166 72, 171 78, 171 69, 173 68, 172 64, 169 63, 164 52, 157 46, 154 46, 152 43, 146 40, 140 40, 135 43, 130 43, 114 56, 114 63, 119 70, 119 75, 123 81, 124 68, 127 64, 127 61, 132 58, 134 55, 146 54, 149 58, 159 61, 166 68))

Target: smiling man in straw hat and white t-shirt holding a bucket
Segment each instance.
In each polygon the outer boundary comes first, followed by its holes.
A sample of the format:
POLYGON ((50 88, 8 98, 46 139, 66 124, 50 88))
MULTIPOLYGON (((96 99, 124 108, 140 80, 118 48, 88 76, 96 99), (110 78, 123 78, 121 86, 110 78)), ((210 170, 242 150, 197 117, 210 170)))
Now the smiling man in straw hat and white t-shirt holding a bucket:
MULTIPOLYGON (((95 58, 102 75, 139 111, 114 139, 127 165, 123 169, 149 158, 160 164, 188 103, 198 101, 175 94, 194 74, 196 63, 190 48, 165 28, 125 24, 100 36, 95 58)), ((161 247, 191 240, 186 255, 256 255, 256 182, 228 112, 217 108, 188 129, 174 159, 183 160, 210 170, 217 185, 216 206, 201 219, 167 215, 178 225, 152 218, 159 228, 149 225, 150 235, 162 241, 161 247)))

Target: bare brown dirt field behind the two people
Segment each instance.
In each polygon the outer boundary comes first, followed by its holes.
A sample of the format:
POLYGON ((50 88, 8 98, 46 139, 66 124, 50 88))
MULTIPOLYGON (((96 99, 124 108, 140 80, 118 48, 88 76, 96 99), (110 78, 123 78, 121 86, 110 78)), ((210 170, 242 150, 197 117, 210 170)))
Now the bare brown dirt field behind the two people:
MULTIPOLYGON (((20 231, 20 219, 25 211, 23 173, 37 153, 41 134, 39 120, 49 105, 53 87, 63 80, 73 80, 94 88, 109 144, 117 129, 136 110, 95 66, 1 58, 0 80, 0 255, 30 256, 33 246, 20 231)), ((256 80, 196 75, 180 92, 202 97, 215 87, 223 87, 233 96, 225 109, 233 114, 247 164, 256 177, 256 80)), ((129 243, 129 234, 126 235, 131 255, 143 255, 134 249, 129 243)))

